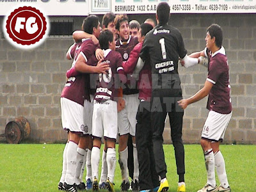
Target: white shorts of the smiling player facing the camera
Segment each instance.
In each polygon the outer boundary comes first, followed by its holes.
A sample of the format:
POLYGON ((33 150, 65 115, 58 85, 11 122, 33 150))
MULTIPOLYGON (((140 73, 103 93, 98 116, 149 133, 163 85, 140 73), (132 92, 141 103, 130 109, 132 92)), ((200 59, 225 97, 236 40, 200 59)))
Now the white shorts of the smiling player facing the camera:
POLYGON ((125 108, 118 113, 118 134, 124 135, 130 133, 135 136, 136 115, 140 104, 139 94, 123 95, 125 108))

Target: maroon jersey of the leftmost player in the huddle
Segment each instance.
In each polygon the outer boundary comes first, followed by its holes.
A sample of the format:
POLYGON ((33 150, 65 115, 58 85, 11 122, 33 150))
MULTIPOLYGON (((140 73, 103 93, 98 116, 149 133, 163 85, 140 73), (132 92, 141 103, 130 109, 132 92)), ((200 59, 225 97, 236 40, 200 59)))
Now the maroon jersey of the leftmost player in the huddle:
MULTIPOLYGON (((72 63, 72 67, 76 65, 77 58, 79 54, 82 54, 86 63, 95 53, 95 45, 92 40, 85 39, 83 42, 77 44, 76 51, 74 53, 74 61, 72 63)), ((67 83, 65 84, 61 97, 65 97, 70 99, 78 104, 84 105, 84 99, 90 100, 88 85, 90 81, 89 74, 83 74, 80 72, 75 72, 72 74, 73 76, 69 77, 67 83)))

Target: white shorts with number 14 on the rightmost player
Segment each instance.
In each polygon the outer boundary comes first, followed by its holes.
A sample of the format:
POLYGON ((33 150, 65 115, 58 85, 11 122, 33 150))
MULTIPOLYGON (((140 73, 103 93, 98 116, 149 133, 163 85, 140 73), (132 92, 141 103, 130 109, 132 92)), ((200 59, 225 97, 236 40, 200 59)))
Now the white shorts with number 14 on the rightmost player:
POLYGON ((212 141, 223 140, 231 116, 232 112, 221 114, 216 111, 209 111, 202 131, 202 138, 212 141))

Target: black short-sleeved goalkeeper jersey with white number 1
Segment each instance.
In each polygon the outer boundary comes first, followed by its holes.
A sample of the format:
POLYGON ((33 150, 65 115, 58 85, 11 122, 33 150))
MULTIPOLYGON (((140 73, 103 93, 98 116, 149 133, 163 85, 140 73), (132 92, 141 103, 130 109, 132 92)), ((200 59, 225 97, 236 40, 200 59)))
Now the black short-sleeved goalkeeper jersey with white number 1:
POLYGON ((157 25, 145 36, 140 57, 150 56, 152 89, 181 89, 178 73, 179 58, 187 51, 180 31, 168 25, 157 25))

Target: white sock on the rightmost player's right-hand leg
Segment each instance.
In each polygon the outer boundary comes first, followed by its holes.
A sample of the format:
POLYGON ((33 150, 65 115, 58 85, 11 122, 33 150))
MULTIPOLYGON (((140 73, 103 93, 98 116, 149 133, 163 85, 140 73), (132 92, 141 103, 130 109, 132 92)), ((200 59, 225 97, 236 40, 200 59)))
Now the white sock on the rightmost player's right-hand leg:
POLYGON ((227 173, 225 169, 225 161, 224 158, 220 152, 216 152, 214 154, 214 159, 215 159, 215 166, 216 166, 216 171, 220 180, 220 184, 223 188, 228 188, 228 178, 227 178, 227 173))

